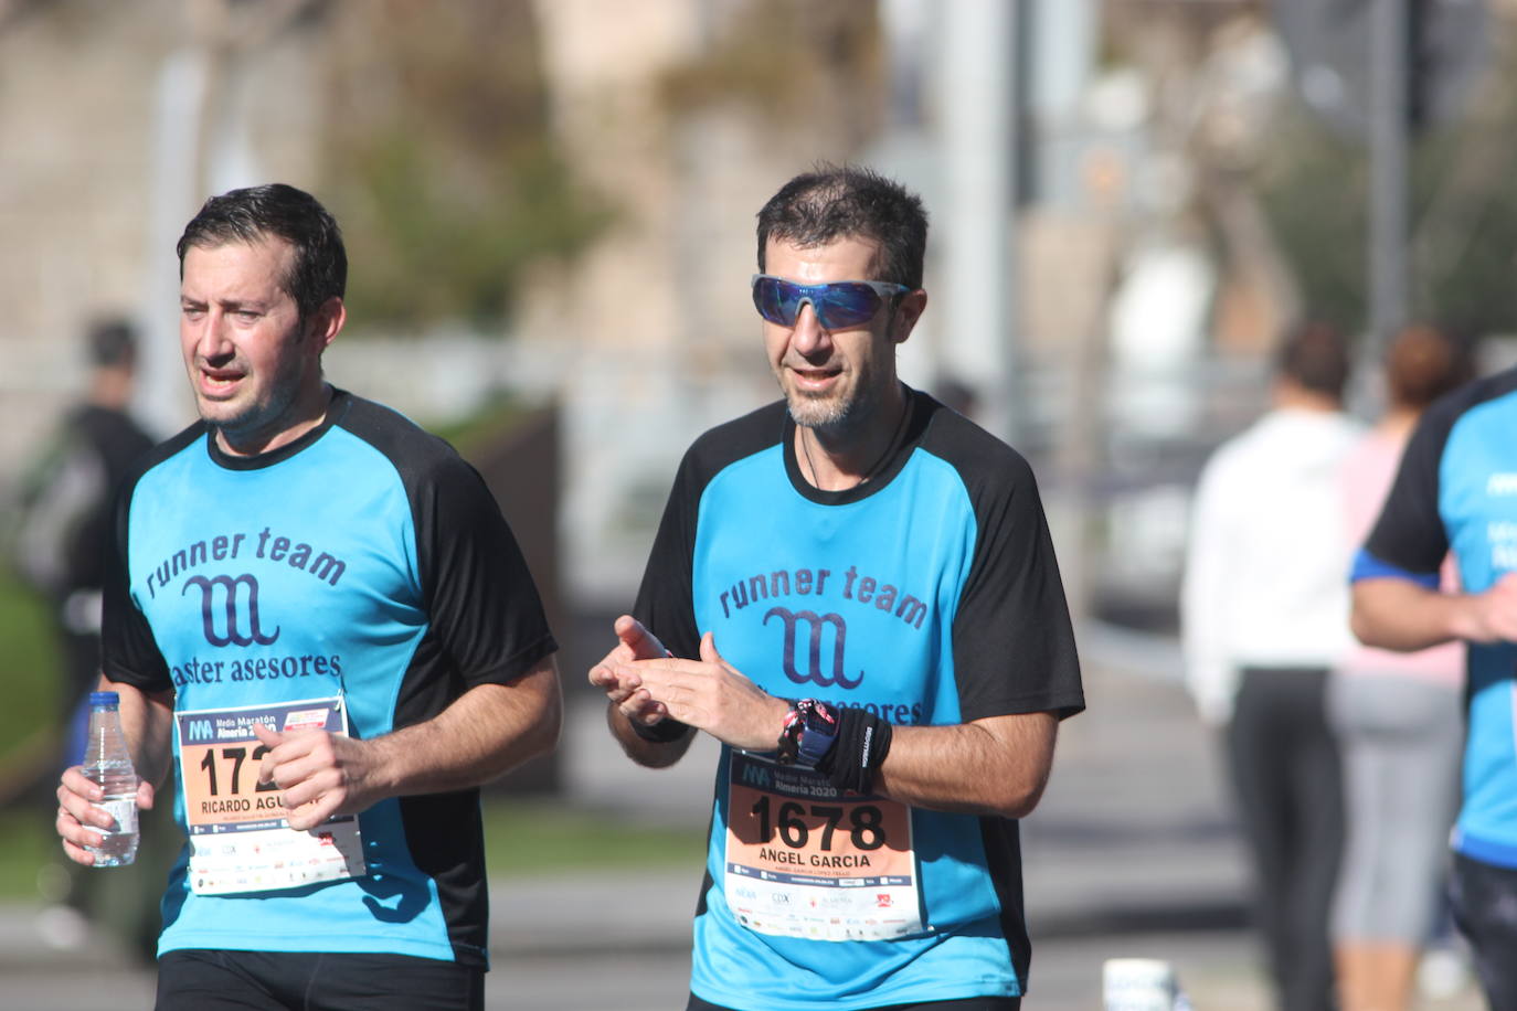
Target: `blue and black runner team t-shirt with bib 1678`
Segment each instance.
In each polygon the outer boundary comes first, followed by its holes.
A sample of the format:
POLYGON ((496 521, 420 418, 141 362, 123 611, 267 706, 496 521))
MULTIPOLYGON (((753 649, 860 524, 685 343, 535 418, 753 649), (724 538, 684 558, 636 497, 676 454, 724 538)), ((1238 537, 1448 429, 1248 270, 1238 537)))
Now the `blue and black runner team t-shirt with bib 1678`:
MULTIPOLYGON (((774 403, 701 437, 675 477, 636 617, 677 656, 701 634, 765 691, 898 726, 1083 708, 1027 462, 912 394, 881 473, 813 488, 774 403)), ((839 794, 722 749, 692 990, 731 1008, 871 1008, 1019 994, 1018 826, 839 794), (763 981, 755 985, 754 981, 763 981)))

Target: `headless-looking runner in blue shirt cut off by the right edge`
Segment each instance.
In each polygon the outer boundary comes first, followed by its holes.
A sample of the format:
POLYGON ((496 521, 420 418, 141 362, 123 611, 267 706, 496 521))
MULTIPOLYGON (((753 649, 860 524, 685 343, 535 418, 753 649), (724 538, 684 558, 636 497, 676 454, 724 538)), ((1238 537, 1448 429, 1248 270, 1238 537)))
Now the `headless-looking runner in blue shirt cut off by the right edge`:
MULTIPOLYGON (((1493 1008, 1517 1008, 1517 368, 1427 408, 1355 559, 1353 631, 1418 650, 1462 640, 1462 803, 1453 919, 1493 1008), (1443 588, 1453 553, 1461 588, 1443 588)), ((1427 817, 1437 817, 1429 812, 1427 817)))

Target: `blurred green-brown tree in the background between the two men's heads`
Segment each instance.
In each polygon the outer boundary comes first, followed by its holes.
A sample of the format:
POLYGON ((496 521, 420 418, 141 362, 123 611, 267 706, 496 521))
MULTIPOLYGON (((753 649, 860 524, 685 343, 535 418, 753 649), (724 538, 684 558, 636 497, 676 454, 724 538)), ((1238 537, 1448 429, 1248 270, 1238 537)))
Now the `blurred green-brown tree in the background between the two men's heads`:
POLYGON ((554 144, 531 0, 334 9, 323 167, 361 321, 508 318, 526 268, 611 221, 554 144))

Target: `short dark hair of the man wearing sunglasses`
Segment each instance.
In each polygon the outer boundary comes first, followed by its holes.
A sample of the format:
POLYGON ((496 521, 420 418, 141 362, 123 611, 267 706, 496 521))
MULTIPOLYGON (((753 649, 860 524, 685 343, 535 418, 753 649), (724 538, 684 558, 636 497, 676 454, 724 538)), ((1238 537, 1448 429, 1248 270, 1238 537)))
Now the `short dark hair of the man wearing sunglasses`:
POLYGON ((784 183, 758 211, 758 270, 769 239, 802 249, 842 238, 878 243, 874 277, 907 288, 922 286, 927 211, 906 186, 856 165, 818 165, 784 183))

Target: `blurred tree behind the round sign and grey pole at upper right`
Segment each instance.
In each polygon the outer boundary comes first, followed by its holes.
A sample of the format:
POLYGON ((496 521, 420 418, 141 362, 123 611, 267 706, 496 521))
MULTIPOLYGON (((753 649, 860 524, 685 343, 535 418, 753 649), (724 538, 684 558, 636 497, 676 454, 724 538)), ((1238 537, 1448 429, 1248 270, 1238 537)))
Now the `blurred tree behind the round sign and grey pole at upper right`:
MULTIPOLYGON (((1185 152, 1194 192, 1174 203, 1209 226, 1224 279, 1265 279, 1271 323, 1309 312, 1359 333, 1368 152, 1294 97, 1267 49, 1239 45, 1273 33, 1264 6, 1112 0, 1106 59, 1148 79, 1148 136, 1185 152)), ((1409 314, 1470 335, 1517 332, 1517 6, 1491 9, 1485 52, 1478 86, 1411 152, 1409 314)))

